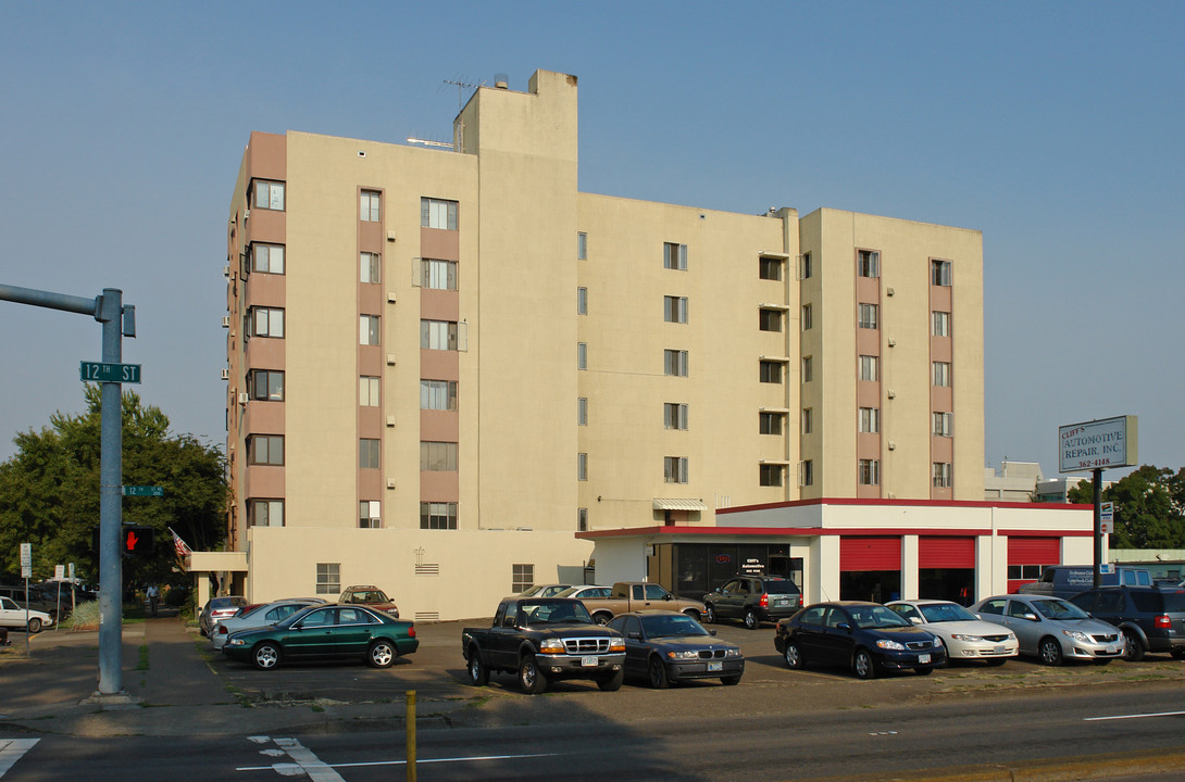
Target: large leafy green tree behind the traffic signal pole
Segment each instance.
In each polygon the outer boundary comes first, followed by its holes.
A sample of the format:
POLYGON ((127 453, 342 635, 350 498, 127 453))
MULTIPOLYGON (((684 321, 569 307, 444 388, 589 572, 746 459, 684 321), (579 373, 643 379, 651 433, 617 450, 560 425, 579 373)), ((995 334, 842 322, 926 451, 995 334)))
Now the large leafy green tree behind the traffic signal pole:
MULTIPOLYGON (((50 416, 40 432, 14 438, 17 453, 0 464, 0 574, 20 573, 19 544, 33 544, 33 576, 51 577, 55 564, 73 562, 96 581, 101 393, 88 384, 87 412, 50 416)), ((124 392, 123 483, 152 485, 164 497, 124 497, 123 523, 150 526, 148 558, 123 561, 123 582, 179 582, 172 528, 193 549, 217 548, 225 537, 226 478, 222 452, 188 434, 173 435, 168 418, 124 392)))

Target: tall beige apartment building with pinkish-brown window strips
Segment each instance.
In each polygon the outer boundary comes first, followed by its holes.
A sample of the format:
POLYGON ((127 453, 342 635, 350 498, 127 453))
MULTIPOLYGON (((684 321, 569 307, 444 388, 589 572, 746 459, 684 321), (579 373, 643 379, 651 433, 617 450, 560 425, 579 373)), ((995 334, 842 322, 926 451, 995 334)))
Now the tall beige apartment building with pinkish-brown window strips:
POLYGON ((632 530, 982 503, 980 232, 587 194, 577 160, 576 77, 546 71, 479 89, 443 149, 251 134, 226 227, 230 550, 192 570, 256 601, 373 583, 454 619, 530 583, 658 579, 641 538, 591 562, 632 530))

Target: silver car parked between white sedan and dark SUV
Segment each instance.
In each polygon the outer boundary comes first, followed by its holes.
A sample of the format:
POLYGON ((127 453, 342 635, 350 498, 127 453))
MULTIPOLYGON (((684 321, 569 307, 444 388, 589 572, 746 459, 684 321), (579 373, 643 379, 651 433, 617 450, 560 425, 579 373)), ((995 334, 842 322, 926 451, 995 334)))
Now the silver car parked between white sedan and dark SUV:
POLYGON ((997 595, 971 607, 973 614, 1007 627, 1020 641, 1020 653, 1036 655, 1045 665, 1090 660, 1106 665, 1123 655, 1123 638, 1107 622, 1061 597, 997 595))

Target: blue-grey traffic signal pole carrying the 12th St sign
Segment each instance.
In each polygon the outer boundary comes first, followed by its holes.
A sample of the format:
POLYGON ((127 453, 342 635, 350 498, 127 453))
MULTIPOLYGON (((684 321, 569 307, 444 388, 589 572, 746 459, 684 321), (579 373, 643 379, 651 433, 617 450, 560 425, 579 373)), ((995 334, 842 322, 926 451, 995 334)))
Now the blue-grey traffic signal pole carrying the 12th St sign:
POLYGON ((104 287, 95 298, 0 285, 0 299, 66 312, 90 315, 103 324, 103 361, 82 362, 81 379, 102 389, 98 466, 98 692, 120 694, 123 647, 123 561, 120 530, 123 519, 123 386, 140 382, 140 367, 121 364, 122 337, 136 336, 136 308, 123 304, 123 291, 104 287), (134 367, 134 371, 132 371, 134 367))

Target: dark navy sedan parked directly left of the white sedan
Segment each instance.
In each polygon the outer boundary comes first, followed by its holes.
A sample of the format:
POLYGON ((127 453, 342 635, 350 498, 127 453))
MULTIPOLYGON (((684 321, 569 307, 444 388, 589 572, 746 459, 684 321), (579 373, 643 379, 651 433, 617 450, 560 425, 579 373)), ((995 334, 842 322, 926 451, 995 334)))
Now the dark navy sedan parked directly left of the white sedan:
POLYGON ((838 665, 860 679, 872 679, 883 670, 925 676, 947 663, 941 638, 880 603, 858 601, 818 603, 780 620, 774 648, 792 670, 838 665))

